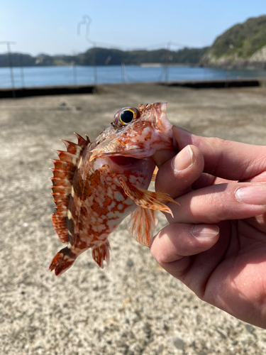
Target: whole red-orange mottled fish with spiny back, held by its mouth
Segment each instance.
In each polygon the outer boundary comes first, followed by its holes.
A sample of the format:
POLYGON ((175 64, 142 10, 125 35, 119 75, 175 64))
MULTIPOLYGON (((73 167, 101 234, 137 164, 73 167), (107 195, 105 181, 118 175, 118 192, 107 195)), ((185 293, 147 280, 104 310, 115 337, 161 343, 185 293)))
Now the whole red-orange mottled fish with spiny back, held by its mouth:
POLYGON ((55 151, 59 159, 52 159, 50 179, 57 209, 52 224, 67 246, 49 265, 55 275, 67 271, 87 249, 92 249, 101 268, 104 261, 108 265, 108 236, 129 214, 129 234, 148 247, 156 212, 172 214, 166 204, 174 202, 169 195, 147 190, 156 175, 153 154, 177 150, 166 107, 167 102, 124 107, 94 141, 77 133, 77 143, 62 140, 67 151, 55 151))

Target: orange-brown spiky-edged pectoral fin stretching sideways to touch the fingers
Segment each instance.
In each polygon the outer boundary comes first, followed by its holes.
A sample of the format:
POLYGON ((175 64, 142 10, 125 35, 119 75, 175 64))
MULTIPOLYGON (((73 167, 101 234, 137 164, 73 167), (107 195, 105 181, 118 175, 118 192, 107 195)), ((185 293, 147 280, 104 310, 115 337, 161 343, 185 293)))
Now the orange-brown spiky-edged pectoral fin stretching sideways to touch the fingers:
POLYGON ((177 202, 175 202, 168 194, 164 194, 162 192, 152 192, 144 190, 140 187, 135 187, 131 184, 131 182, 126 181, 126 179, 122 177, 119 178, 119 182, 121 183, 126 195, 128 195, 128 197, 130 197, 135 204, 138 204, 138 206, 167 212, 173 217, 171 209, 162 203, 162 201, 165 201, 177 204, 177 202))

